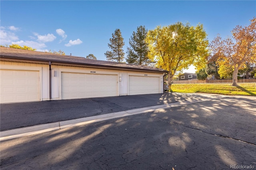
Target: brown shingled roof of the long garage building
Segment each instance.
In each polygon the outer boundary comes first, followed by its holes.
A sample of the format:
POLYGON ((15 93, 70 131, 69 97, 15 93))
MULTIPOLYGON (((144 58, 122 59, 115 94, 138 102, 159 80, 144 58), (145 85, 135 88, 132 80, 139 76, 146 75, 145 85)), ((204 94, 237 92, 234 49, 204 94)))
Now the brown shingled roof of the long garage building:
POLYGON ((83 65, 84 67, 103 67, 106 69, 123 69, 123 70, 168 73, 167 70, 159 69, 156 67, 118 63, 118 62, 111 62, 111 61, 102 61, 102 60, 95 60, 95 59, 86 59, 84 57, 60 55, 60 54, 53 54, 53 53, 39 52, 39 51, 30 51, 25 49, 15 49, 10 47, 0 47, 0 57, 1 57, 1 60, 5 58, 5 59, 21 59, 21 60, 30 60, 30 61, 45 61, 45 62, 51 62, 52 65, 54 64, 83 65))

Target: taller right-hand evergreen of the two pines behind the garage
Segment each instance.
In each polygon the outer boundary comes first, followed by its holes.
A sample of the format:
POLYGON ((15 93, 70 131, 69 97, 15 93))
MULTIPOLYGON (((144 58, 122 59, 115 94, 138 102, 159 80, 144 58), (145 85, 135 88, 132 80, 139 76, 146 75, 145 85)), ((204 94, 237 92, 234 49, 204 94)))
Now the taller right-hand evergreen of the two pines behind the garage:
POLYGON ((130 47, 127 47, 126 62, 129 64, 149 65, 153 63, 148 58, 148 43, 146 43, 146 36, 148 30, 145 26, 139 26, 137 32, 133 32, 129 39, 130 47))

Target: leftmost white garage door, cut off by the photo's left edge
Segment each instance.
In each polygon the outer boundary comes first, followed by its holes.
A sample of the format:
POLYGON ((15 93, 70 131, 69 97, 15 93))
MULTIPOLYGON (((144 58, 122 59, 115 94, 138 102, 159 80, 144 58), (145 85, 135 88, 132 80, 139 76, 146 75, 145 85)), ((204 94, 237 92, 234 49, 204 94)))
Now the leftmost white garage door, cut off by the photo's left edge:
POLYGON ((39 71, 1 69, 1 102, 40 101, 39 71))

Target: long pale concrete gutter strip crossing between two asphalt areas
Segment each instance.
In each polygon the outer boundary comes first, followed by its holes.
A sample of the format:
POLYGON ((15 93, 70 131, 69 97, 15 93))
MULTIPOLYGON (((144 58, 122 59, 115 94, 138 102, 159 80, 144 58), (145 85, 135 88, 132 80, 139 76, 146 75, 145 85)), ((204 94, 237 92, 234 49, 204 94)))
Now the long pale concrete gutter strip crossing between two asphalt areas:
POLYGON ((27 135, 31 135, 31 134, 49 132, 52 130, 60 130, 60 129, 64 129, 64 128, 85 125, 85 124, 89 124, 89 123, 106 121, 109 119, 114 119, 114 118, 119 118, 119 117, 126 117, 126 116, 141 114, 141 113, 161 111, 161 110, 169 109, 172 107, 190 105, 190 104, 199 103, 202 101, 210 101, 214 98, 215 97, 192 99, 192 100, 180 101, 180 102, 176 102, 176 103, 167 103, 165 105, 156 105, 156 106, 144 107, 144 108, 140 108, 140 109, 132 109, 132 110, 121 111, 121 112, 116 112, 116 113, 108 113, 108 114, 92 116, 92 117, 85 117, 85 118, 73 119, 73 120, 68 120, 68 121, 60 121, 60 122, 56 122, 56 123, 48 123, 48 124, 44 124, 44 125, 36 125, 36 126, 32 126, 32 127, 6 130, 6 131, 0 132, 0 141, 18 138, 18 137, 22 137, 22 136, 27 136, 27 135))

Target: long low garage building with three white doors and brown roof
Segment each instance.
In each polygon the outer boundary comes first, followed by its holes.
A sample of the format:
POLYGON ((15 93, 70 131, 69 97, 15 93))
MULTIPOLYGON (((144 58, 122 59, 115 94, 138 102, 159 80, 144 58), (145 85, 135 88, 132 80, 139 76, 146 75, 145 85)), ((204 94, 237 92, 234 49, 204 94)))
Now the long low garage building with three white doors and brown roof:
POLYGON ((0 47, 0 103, 163 93, 166 70, 0 47))

